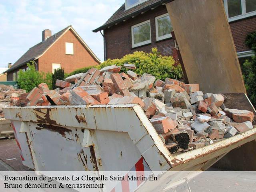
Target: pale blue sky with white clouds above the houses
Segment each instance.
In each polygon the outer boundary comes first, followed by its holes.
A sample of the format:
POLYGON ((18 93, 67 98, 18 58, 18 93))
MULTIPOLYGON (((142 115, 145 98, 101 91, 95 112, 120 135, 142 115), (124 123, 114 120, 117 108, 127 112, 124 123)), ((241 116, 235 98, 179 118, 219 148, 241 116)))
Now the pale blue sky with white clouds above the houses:
POLYGON ((72 25, 93 52, 104 60, 103 38, 92 30, 101 26, 124 0, 0 0, 0 67, 16 62, 52 34, 72 25))

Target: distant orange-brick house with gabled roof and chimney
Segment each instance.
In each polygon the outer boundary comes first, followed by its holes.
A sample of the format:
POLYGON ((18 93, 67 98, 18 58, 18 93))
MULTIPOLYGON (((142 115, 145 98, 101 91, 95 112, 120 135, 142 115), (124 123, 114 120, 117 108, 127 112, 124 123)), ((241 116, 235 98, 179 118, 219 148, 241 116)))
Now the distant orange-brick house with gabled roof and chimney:
POLYGON ((54 35, 50 30, 44 30, 42 42, 31 47, 6 71, 7 80, 17 80, 18 71, 20 69, 25 71, 26 64, 30 61, 35 62, 35 68, 38 71, 54 72, 54 69, 61 67, 66 73, 100 63, 97 56, 72 26, 68 26, 54 35))

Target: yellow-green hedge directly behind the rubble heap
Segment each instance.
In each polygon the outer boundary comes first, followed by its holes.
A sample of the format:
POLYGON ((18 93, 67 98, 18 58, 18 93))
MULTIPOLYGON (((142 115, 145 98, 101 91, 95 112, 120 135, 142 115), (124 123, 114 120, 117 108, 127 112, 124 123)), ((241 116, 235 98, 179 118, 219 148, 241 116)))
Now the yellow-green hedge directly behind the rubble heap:
MULTIPOLYGON (((102 69, 106 66, 115 64, 116 66, 122 66, 121 71, 126 72, 128 69, 123 67, 125 63, 135 64, 136 70, 134 70, 134 72, 137 74, 148 73, 161 80, 164 80, 165 78, 182 78, 182 68, 180 64, 178 64, 172 56, 160 55, 157 48, 152 48, 152 52, 150 53, 136 51, 133 54, 128 54, 121 59, 108 59, 102 64, 94 67, 102 69)), ((70 73, 69 76, 80 72, 86 72, 90 68, 78 69, 70 73)))

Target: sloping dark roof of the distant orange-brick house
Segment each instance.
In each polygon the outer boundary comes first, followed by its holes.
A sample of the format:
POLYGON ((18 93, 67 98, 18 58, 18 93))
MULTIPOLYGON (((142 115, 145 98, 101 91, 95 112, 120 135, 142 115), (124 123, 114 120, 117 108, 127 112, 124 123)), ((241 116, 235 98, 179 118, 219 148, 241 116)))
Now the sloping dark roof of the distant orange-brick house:
POLYGON ((10 69, 6 72, 10 72, 19 66, 26 64, 27 62, 38 58, 58 37, 60 37, 70 26, 62 29, 58 33, 50 36, 45 41, 36 44, 35 46, 31 47, 24 55, 22 55, 10 69))

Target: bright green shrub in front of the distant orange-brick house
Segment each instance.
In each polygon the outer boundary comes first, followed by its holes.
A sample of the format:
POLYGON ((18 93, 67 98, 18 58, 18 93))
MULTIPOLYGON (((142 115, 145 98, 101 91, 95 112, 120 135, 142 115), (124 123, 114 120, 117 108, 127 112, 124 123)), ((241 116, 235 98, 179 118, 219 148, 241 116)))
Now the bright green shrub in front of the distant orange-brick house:
POLYGON ((19 71, 18 86, 21 89, 30 92, 34 87, 40 83, 46 83, 48 87, 52 88, 52 74, 38 72, 34 66, 34 61, 27 63, 28 69, 26 71, 19 71))

